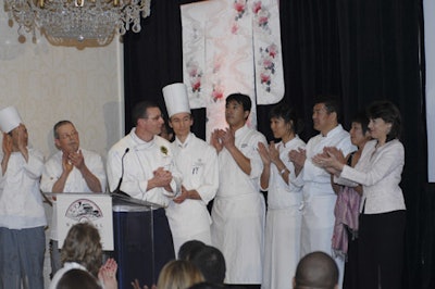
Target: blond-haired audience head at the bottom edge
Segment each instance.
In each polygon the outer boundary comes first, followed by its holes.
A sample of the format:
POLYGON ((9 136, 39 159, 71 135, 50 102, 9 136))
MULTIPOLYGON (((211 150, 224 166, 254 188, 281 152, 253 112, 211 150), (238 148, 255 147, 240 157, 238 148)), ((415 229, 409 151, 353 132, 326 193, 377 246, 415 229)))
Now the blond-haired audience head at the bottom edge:
POLYGON ((160 272, 157 288, 185 289, 203 280, 201 272, 191 262, 173 260, 164 265, 160 272))

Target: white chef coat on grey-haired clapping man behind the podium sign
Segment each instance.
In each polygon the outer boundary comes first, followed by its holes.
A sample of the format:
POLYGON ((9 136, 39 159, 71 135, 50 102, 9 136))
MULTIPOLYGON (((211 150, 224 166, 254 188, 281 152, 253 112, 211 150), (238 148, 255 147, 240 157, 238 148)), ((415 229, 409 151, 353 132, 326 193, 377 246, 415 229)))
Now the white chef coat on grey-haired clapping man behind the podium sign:
MULTIPOLYGON (((82 150, 83 158, 88 169, 100 180, 101 192, 105 191, 105 171, 104 165, 102 163, 101 156, 92 151, 82 150)), ((44 192, 52 192, 54 183, 61 177, 63 167, 62 167, 62 151, 58 151, 54 153, 45 164, 44 173, 40 181, 40 189, 44 192)), ((63 192, 92 192, 88 185, 86 184, 85 178, 83 177, 80 171, 77 167, 73 167, 70 172, 65 186, 63 188, 63 192)), ((53 203, 53 214, 51 218, 51 230, 50 230, 50 239, 58 241, 58 202, 55 200, 53 203)))

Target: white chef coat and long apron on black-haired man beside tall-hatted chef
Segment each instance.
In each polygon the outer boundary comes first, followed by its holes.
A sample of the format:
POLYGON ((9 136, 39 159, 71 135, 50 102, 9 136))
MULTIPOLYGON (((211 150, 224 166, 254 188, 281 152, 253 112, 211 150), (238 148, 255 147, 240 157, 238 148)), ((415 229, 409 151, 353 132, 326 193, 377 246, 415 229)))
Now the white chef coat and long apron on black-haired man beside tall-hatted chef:
POLYGON ((260 193, 263 163, 258 143, 266 146, 257 130, 244 126, 235 133, 235 144, 250 160, 246 175, 224 148, 219 153, 220 187, 212 209, 213 244, 226 261, 227 284, 261 284, 264 239, 264 198, 260 193))

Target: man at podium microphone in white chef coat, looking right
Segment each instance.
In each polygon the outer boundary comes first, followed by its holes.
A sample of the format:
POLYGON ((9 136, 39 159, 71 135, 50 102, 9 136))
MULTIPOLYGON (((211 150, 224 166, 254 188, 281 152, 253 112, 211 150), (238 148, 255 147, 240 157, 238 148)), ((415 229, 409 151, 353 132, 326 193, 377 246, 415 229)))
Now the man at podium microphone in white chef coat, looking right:
POLYGON ((163 265, 175 259, 164 208, 178 192, 181 175, 174 165, 171 143, 159 136, 164 123, 159 106, 149 101, 139 102, 132 117, 136 126, 109 151, 108 179, 110 191, 120 190, 160 206, 152 208, 153 278, 157 278, 163 265))

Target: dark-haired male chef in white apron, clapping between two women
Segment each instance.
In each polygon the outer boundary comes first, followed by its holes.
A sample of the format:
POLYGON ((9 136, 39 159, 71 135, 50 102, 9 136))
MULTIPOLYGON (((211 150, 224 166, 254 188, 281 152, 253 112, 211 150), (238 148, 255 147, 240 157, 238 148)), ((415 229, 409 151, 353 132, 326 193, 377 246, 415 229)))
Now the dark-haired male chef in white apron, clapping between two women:
MULTIPOLYGON (((337 199, 331 185, 331 174, 316 166, 312 158, 323 152, 325 147, 336 147, 345 155, 356 148, 350 142, 349 133, 340 124, 339 103, 335 98, 316 99, 313 106, 314 129, 320 131, 312 137, 306 149, 291 150, 289 158, 295 164, 298 179, 303 180, 303 209, 301 225, 300 256, 314 251, 332 254, 334 230, 334 208, 337 199)), ((343 280, 344 260, 335 257, 343 280)))

